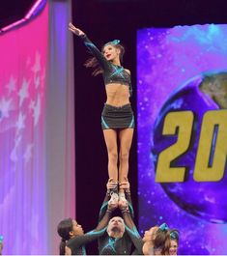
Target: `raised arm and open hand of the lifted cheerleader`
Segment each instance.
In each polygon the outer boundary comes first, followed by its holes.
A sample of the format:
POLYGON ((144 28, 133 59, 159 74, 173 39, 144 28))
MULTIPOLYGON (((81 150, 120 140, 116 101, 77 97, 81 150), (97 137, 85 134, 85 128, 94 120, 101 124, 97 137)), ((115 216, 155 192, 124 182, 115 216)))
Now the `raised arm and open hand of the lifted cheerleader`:
POLYGON ((109 65, 110 65, 109 62, 105 59, 105 57, 99 51, 97 46, 88 39, 86 34, 82 30, 80 30, 79 28, 76 28, 75 26, 73 26, 71 23, 69 23, 69 30, 73 34, 78 36, 83 41, 83 43, 86 45, 86 47, 90 50, 90 52, 94 55, 94 57, 97 58, 101 69, 103 71, 107 70, 109 65))

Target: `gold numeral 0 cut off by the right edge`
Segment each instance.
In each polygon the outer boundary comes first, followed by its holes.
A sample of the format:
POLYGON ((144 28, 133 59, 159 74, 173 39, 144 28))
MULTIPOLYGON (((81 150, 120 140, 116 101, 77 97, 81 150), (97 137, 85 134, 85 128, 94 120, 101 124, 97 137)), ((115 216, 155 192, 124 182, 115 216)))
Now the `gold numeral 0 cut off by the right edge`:
POLYGON ((227 156, 227 110, 205 113, 195 161, 194 180, 217 182, 224 175, 227 156))

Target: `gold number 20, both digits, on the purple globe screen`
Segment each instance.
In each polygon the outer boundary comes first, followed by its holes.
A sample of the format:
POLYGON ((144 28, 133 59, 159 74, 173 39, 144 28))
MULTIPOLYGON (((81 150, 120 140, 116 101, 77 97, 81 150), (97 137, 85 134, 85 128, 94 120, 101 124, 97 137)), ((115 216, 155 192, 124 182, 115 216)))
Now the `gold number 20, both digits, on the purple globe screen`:
MULTIPOLYGON (((193 126, 191 111, 170 112, 166 115, 163 135, 174 135, 178 128, 178 140, 163 150, 157 159, 156 182, 184 182, 185 167, 171 167, 170 163, 182 156, 189 147, 193 126)), ((213 110, 203 117, 195 159, 194 180, 217 182, 224 175, 227 156, 227 110, 213 110)))

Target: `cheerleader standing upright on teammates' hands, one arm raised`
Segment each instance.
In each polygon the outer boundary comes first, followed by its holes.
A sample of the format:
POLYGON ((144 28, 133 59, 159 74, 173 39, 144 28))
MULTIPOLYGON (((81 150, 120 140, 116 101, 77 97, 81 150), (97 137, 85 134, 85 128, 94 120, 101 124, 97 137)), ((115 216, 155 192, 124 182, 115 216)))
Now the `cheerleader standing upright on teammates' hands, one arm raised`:
MULTIPOLYGON (((121 185, 128 181, 128 157, 134 130, 134 116, 129 102, 132 93, 130 71, 121 66, 125 49, 119 40, 114 40, 105 43, 100 52, 83 31, 71 23, 69 29, 85 43, 94 56, 85 66, 95 68, 94 75, 102 73, 107 100, 101 113, 101 127, 108 153, 108 175, 109 179, 121 185)), ((112 200, 126 200, 121 186, 119 196, 116 192, 115 190, 112 194, 112 200)))

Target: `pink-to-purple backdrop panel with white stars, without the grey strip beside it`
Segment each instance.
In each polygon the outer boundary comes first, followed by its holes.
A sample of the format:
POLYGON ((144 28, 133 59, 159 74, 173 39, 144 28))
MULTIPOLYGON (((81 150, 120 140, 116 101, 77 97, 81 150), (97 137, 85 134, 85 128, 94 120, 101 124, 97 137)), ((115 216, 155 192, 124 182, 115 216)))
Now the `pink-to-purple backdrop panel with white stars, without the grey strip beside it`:
POLYGON ((46 23, 47 8, 32 25, 0 38, 0 232, 4 254, 46 251, 46 23))

